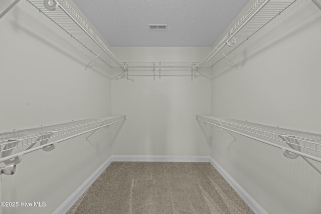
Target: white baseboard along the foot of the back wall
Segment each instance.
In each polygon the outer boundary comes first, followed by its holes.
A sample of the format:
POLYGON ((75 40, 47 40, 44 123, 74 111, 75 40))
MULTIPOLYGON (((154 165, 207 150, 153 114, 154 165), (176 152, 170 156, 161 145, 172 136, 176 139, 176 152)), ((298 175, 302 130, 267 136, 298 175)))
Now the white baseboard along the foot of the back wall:
POLYGON ((210 162, 210 156, 113 155, 119 162, 210 162))

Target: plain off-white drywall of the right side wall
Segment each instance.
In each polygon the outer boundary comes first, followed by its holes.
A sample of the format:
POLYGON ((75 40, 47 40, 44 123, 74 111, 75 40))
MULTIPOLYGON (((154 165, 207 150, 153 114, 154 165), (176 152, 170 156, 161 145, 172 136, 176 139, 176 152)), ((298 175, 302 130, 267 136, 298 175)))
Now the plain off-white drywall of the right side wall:
MULTIPOLYGON (((226 59, 213 67, 212 115, 321 133, 320 34, 321 11, 294 3, 229 55, 238 70, 226 59)), ((321 213, 321 174, 300 157, 235 136, 213 128, 211 156, 265 211, 321 213)))

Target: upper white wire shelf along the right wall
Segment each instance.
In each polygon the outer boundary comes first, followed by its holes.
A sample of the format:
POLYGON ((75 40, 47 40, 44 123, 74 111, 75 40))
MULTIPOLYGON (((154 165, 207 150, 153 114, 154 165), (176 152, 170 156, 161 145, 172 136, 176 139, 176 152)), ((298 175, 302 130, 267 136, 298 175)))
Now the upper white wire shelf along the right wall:
POLYGON ((296 2, 296 0, 258 0, 255 2, 250 10, 246 12, 246 14, 209 53, 206 59, 200 64, 200 67, 203 67, 207 63, 210 64, 209 67, 213 67, 253 36, 257 31, 271 22, 275 17, 280 15, 285 9, 290 7, 294 2, 296 2), (236 39, 234 44, 232 43, 232 38, 236 39), (219 52, 222 52, 223 54, 219 52), (224 56, 224 54, 226 56, 224 56))

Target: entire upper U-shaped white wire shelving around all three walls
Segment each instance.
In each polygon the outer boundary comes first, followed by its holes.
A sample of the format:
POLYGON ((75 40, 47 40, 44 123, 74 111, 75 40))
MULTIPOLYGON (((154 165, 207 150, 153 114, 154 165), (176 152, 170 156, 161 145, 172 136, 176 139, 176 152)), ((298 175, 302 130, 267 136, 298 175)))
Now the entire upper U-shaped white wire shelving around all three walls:
MULTIPOLYGON (((20 0, 5 10, 6 14, 20 0)), ((204 61, 200 62, 120 62, 86 22, 76 13, 76 11, 67 3, 66 0, 27 0, 37 10, 43 13, 51 21, 57 24, 61 29, 67 32, 71 37, 90 50, 96 57, 86 65, 87 67, 96 59, 100 58, 108 66, 106 58, 100 56, 103 52, 112 59, 123 71, 128 68, 152 68, 168 67, 182 68, 192 67, 198 71, 202 67, 213 67, 219 61, 227 58, 228 55, 246 40, 252 37, 257 31, 275 19, 284 10, 289 8, 297 0, 257 0, 254 5, 244 14, 244 16, 230 29, 230 31, 218 42, 215 48, 208 54, 204 61), (52 1, 58 3, 55 10, 47 10, 44 2, 52 1), (235 38, 235 40, 234 40, 235 38), (100 53, 99 53, 100 52, 100 53), (160 65, 160 66, 159 66, 160 65)), ((321 5, 316 0, 311 0, 320 10, 321 5)), ((237 68, 237 65, 233 63, 237 68)), ((112 67, 112 66, 110 66, 112 67)))

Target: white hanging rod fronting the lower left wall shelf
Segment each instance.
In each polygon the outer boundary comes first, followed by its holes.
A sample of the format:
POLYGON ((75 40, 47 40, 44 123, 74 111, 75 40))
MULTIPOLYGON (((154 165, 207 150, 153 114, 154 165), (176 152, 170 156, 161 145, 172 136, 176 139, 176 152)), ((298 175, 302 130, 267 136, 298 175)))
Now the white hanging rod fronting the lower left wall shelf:
POLYGON ((25 151, 22 151, 22 152, 15 153, 15 154, 13 154, 13 155, 9 155, 9 156, 6 156, 6 157, 2 157, 2 158, 0 158, 0 163, 1 163, 1 162, 4 162, 4 161, 6 161, 6 160, 13 159, 13 158, 22 157, 22 156, 25 155, 25 154, 28 154, 28 153, 31 153, 31 152, 33 152, 33 151, 37 151, 37 150, 40 150, 40 149, 43 149, 43 148, 46 148, 46 147, 49 147, 49 146, 52 146, 52 145, 55 146, 56 144, 61 143, 61 142, 63 142, 63 141, 66 141, 66 140, 69 140, 69 139, 71 139, 71 138, 74 138, 74 137, 77 137, 77 136, 86 134, 86 133, 91 132, 91 131, 95 131, 95 130, 100 129, 100 128, 104 128, 104 127, 110 126, 110 125, 112 125, 112 124, 114 124, 114 123, 118 123, 118 122, 124 121, 124 120, 126 120, 125 117, 124 117, 123 119, 120 119, 120 120, 117 120, 117 121, 112 121, 112 122, 109 122, 109 123, 107 123, 107 124, 105 124, 105 125, 101 125, 101 126, 99 126, 99 127, 92 128, 92 129, 90 129, 90 130, 86 130, 86 131, 83 131, 83 132, 81 132, 81 133, 74 134, 74 135, 72 135, 72 136, 68 136, 68 137, 65 137, 65 138, 62 138, 62 139, 59 139, 59 140, 55 140, 54 142, 46 143, 46 144, 37 146, 37 147, 35 147, 35 148, 31 148, 31 149, 28 149, 28 150, 25 150, 25 151))

